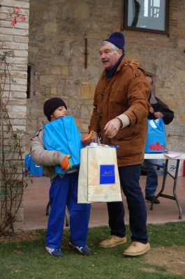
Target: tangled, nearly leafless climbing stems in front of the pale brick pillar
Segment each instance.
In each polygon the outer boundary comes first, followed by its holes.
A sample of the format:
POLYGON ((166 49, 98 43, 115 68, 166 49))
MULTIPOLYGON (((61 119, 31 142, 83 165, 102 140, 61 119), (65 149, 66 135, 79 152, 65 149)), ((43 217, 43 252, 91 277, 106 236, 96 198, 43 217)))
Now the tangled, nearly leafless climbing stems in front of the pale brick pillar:
POLYGON ((27 181, 24 177, 24 142, 26 132, 14 129, 8 114, 10 99, 10 71, 6 59, 14 57, 13 51, 4 50, 6 43, 0 48, 0 236, 9 228, 13 229, 17 212, 22 205, 27 181))

